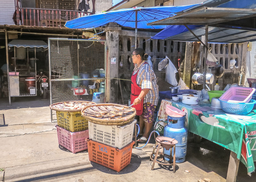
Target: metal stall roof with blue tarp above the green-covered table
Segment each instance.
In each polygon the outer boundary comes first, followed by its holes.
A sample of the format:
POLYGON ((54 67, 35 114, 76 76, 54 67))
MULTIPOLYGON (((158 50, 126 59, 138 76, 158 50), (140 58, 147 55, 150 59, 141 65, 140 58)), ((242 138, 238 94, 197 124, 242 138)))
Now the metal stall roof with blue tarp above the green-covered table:
POLYGON ((256 28, 254 25, 237 26, 237 21, 246 22, 245 20, 250 18, 252 20, 255 16, 256 9, 199 8, 150 23, 152 25, 171 25, 152 38, 188 42, 198 41, 193 33, 200 38, 205 34, 204 25, 209 25, 208 42, 241 43, 255 41, 256 28), (188 31, 184 25, 190 25, 188 27, 193 33, 188 31), (181 29, 182 31, 180 31, 181 29))

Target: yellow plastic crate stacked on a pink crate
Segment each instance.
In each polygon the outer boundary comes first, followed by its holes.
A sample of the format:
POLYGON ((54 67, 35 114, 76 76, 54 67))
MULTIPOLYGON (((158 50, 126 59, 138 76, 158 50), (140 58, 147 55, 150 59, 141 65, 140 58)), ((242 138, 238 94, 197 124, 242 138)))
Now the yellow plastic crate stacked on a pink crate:
POLYGON ((73 153, 88 149, 86 141, 89 138, 88 121, 81 115, 81 109, 56 110, 56 115, 58 125, 55 127, 59 145, 73 153))

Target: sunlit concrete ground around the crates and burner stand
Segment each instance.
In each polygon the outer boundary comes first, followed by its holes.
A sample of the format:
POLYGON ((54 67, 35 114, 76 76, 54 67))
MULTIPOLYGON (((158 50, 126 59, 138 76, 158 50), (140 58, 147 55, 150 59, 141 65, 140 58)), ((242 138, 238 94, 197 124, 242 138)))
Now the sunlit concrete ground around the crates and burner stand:
MULTIPOLYGON (((51 122, 50 101, 39 97, 19 97, 8 105, 8 98, 0 99, 0 181, 225 181, 230 151, 203 140, 194 143, 190 134, 184 163, 172 167, 155 164, 149 155, 154 139, 143 149, 132 149, 131 164, 117 173, 90 162, 87 150, 73 154, 59 146, 56 122, 51 122), (0 115, 1 117, 2 115, 0 115), (4 169, 5 171, 1 171, 4 169), (186 173, 185 170, 191 172, 186 173), (2 176, 1 176, 2 175, 2 176)), ((141 145, 140 145, 141 146, 141 145)), ((256 164, 255 164, 256 166, 256 164)), ((237 181, 256 181, 247 175, 240 163, 237 181)))

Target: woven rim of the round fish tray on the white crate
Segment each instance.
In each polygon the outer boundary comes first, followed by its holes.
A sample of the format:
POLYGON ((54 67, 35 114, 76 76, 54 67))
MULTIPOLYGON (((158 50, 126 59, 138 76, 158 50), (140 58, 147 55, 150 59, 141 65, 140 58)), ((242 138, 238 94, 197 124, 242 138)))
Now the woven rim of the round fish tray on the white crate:
MULTIPOLYGON (((82 116, 84 116, 84 118, 92 123, 95 123, 95 124, 99 124, 99 125, 116 125, 116 126, 122 126, 126 123, 129 123, 130 121, 134 120, 134 117, 135 117, 135 114, 136 114, 136 110, 135 108, 133 107, 130 107, 131 110, 133 110, 133 113, 126 116, 126 117, 123 117, 123 118, 120 118, 120 119, 103 119, 103 118, 97 118, 97 117, 92 117, 92 116, 89 116, 87 115, 86 113, 84 113, 84 110, 89 108, 89 107, 92 107, 92 106, 121 106, 121 107, 124 107, 124 108, 129 108, 128 106, 123 106, 123 105, 119 105, 119 104, 109 104, 109 103, 104 103, 104 104, 94 104, 94 105, 91 105, 91 106, 86 106, 82 109, 81 111, 81 114, 82 116)), ((116 110, 118 111, 118 110, 116 110)), ((122 110, 121 110, 122 111, 122 110)))

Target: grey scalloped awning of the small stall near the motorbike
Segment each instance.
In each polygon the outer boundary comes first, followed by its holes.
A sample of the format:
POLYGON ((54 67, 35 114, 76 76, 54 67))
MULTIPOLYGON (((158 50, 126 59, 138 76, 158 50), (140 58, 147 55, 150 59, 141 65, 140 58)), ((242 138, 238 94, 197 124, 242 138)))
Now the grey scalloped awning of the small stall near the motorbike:
POLYGON ((48 44, 46 44, 43 40, 12 40, 8 43, 9 47, 44 47, 47 48, 48 44))

